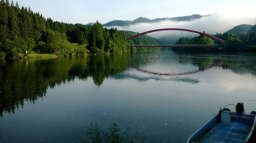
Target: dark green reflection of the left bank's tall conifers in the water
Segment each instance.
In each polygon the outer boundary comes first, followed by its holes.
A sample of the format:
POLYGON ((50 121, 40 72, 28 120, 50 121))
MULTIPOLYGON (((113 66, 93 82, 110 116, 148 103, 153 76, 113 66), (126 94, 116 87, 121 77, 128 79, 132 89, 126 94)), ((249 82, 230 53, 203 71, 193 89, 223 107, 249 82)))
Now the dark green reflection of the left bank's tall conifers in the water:
POLYGON ((74 79, 92 77, 100 86, 104 79, 125 71, 128 54, 57 59, 0 60, 0 116, 23 108, 54 88, 74 79))

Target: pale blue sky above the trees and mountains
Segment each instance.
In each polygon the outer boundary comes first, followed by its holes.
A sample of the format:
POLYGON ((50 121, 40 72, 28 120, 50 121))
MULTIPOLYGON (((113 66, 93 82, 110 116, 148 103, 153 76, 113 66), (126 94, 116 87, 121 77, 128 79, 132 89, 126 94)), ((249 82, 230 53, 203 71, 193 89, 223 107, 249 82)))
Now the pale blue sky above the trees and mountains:
MULTIPOLYGON (((9 0, 11 3, 11 0, 9 0)), ((234 10, 247 11, 256 6, 256 0, 13 0, 34 12, 51 17, 54 21, 67 23, 112 20, 134 20, 179 17, 192 14, 208 15, 234 10), (233 6, 233 7, 232 7, 233 6), (248 7, 249 6, 249 7, 248 7), (240 9, 241 8, 241 9, 240 9)), ((248 12, 248 11, 247 11, 248 12)), ((249 11, 250 12, 250 11, 249 11)), ((252 9, 253 13, 255 8, 252 9)), ((243 16, 243 14, 241 14, 243 16)))

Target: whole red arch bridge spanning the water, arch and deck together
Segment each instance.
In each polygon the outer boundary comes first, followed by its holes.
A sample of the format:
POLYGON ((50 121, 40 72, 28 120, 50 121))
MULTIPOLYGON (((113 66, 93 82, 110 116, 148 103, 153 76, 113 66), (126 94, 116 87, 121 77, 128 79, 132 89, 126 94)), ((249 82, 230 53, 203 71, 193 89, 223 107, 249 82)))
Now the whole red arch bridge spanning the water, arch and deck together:
MULTIPOLYGON (((137 34, 137 35, 127 38, 126 41, 131 40, 137 36, 141 36, 141 35, 152 33, 152 32, 157 32, 157 31, 187 31, 187 32, 201 34, 201 35, 210 37, 212 39, 216 39, 220 42, 225 42, 224 40, 219 39, 210 34, 206 34, 206 33, 199 32, 199 31, 194 31, 194 30, 189 30, 189 29, 182 29, 182 28, 162 28, 162 29, 155 29, 155 30, 151 30, 151 31, 145 31, 143 33, 140 33, 140 34, 137 34)), ((214 45, 128 45, 128 47, 218 47, 218 46, 219 45, 217 45, 217 44, 214 44, 214 45)))

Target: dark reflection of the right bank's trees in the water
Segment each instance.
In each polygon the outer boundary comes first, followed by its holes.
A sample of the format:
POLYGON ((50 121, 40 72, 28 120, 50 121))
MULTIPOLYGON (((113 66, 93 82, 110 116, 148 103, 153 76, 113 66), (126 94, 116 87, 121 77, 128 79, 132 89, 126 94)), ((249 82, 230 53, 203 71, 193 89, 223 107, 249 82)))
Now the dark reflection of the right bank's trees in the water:
POLYGON ((185 54, 180 55, 180 63, 192 63, 200 69, 218 64, 223 70, 231 70, 236 74, 252 74, 256 76, 256 54, 255 53, 238 53, 238 54, 185 54))

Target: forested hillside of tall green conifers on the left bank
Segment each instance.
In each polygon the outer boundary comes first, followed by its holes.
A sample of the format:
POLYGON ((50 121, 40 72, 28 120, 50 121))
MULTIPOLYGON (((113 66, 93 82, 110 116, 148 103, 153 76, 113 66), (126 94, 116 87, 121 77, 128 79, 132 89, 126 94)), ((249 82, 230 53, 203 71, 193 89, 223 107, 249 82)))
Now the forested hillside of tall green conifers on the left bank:
POLYGON ((127 32, 103 28, 98 21, 93 25, 53 21, 30 7, 0 1, 0 58, 20 58, 31 52, 64 56, 125 53, 130 51, 126 38, 127 32))

